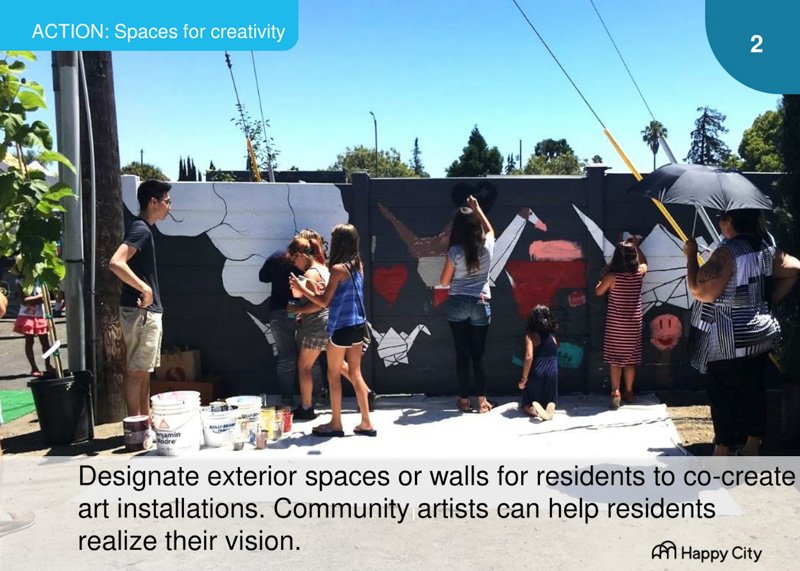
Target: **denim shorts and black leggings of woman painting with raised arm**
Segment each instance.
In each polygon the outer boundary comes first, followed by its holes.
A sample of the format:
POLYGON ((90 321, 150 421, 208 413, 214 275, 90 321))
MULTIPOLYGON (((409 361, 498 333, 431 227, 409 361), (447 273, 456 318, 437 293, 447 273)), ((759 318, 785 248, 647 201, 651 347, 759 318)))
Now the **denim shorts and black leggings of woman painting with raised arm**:
POLYGON ((456 376, 461 398, 467 398, 470 393, 470 361, 476 393, 478 396, 486 396, 483 354, 491 320, 492 309, 488 301, 468 295, 454 295, 447 300, 447 321, 456 348, 456 376))

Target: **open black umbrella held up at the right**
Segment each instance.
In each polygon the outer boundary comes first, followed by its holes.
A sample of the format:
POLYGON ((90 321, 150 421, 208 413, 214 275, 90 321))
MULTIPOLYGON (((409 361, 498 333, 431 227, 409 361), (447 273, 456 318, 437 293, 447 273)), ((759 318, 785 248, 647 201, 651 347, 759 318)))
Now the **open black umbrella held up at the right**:
POLYGON ((645 176, 628 192, 664 204, 688 204, 723 212, 773 208, 769 197, 740 172, 705 165, 665 165, 645 176))

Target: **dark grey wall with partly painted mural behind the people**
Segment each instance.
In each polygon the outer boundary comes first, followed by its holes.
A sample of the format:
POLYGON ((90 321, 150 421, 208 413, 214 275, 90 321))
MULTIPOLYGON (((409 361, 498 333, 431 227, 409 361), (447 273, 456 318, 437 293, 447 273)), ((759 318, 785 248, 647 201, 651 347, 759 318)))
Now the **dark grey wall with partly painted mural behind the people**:
MULTIPOLYGON (((774 175, 751 178, 771 193, 774 175)), ((156 239, 165 346, 201 349, 203 368, 221 374, 231 394, 275 391, 269 286, 258 282, 258 269, 296 230, 310 226, 325 234, 349 219, 362 237, 367 310, 377 333, 365 360, 370 384, 381 393, 455 393, 452 340, 432 286, 453 210, 475 194, 498 236, 486 355, 490 392, 516 392, 524 317, 537 303, 550 305, 560 323, 561 391, 605 390, 606 300, 593 288, 604 250, 610 255, 624 232, 645 237, 651 268, 638 387, 696 388, 686 364, 691 300, 681 242, 649 200, 624 192, 634 182, 590 168, 579 177, 370 180, 362 174, 336 186, 175 183, 173 219, 158 224, 156 239)), ((135 186, 136 179, 124 177, 129 209, 135 186)), ((690 232, 693 209, 670 212, 690 232)))

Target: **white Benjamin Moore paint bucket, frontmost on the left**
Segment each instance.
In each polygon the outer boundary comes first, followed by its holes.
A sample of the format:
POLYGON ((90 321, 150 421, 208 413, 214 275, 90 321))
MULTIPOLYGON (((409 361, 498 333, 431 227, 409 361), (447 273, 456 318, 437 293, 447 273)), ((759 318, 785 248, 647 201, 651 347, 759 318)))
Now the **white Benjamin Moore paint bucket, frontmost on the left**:
POLYGON ((200 450, 203 429, 200 393, 174 391, 150 398, 156 446, 162 456, 184 456, 200 450))

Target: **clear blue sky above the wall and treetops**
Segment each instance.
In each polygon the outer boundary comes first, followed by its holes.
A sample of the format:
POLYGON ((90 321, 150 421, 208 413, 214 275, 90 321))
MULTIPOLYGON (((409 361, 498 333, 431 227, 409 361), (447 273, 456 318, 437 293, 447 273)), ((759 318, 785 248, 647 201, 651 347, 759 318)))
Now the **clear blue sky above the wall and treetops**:
MULTIPOLYGON (((634 165, 651 170, 641 141, 650 115, 589 0, 518 1, 634 165)), ((595 5, 679 160, 697 107, 727 115, 733 150, 755 117, 776 107, 780 96, 738 83, 714 58, 704 2, 595 5)), ((29 76, 50 89, 50 54, 38 55, 29 76)), ((231 55, 242 103, 258 118, 250 52, 231 55)), ((503 156, 518 154, 520 139, 526 160, 536 142, 566 138, 579 157, 598 154, 626 170, 511 0, 300 0, 297 45, 256 52, 255 61, 282 169, 326 168, 346 147, 373 148, 374 111, 379 147, 408 162, 418 137, 432 176, 444 176, 473 125, 503 156)), ((114 75, 123 164, 143 149, 145 162, 174 178, 181 156, 203 169, 211 160, 243 168, 222 52, 115 52, 114 75)), ((53 124, 52 117, 49 110, 41 118, 53 124)))

